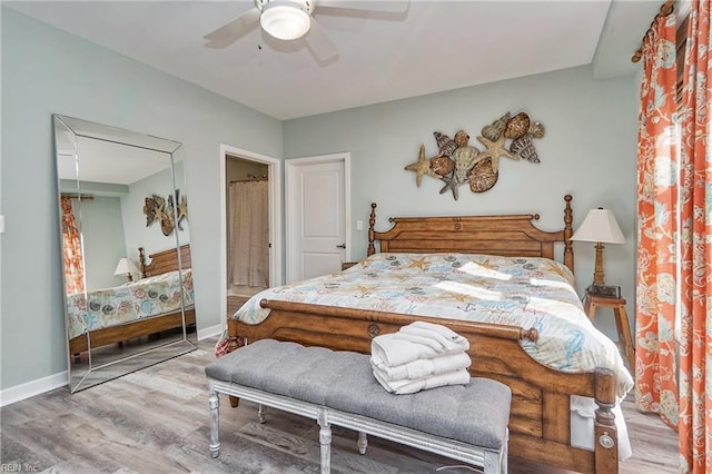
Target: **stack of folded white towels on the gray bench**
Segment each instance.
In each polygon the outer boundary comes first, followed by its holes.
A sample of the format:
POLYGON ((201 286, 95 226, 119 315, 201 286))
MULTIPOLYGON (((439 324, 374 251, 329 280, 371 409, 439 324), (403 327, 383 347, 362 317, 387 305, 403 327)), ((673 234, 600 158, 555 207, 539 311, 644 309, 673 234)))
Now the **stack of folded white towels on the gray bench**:
POLYGON ((404 395, 425 388, 469 383, 465 353, 469 342, 452 329, 415 322, 395 334, 374 337, 370 365, 378 383, 388 392, 404 395))

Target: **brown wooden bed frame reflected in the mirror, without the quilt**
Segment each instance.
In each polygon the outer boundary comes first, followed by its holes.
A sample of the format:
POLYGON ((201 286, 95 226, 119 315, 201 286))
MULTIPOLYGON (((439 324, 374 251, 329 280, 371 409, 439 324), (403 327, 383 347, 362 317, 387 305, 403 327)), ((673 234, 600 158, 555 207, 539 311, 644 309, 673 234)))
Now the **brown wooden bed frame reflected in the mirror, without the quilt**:
MULTIPOLYGON (((138 248, 139 253, 139 270, 141 278, 160 275, 178 269, 178 251, 175 248, 158 251, 148 256, 150 264, 146 264, 146 254, 144 247, 138 248)), ((190 264, 190 246, 180 246, 180 267, 189 268, 190 264)), ((185 308, 186 326, 195 326, 196 310, 190 306, 185 308)), ((148 336, 155 333, 174 329, 182 326, 182 314, 180 310, 167 313, 164 315, 152 316, 140 320, 120 324, 117 326, 105 327, 89 332, 91 338, 91 347, 101 347, 109 344, 122 343, 132 337, 148 336)), ((87 335, 81 334, 69 340, 69 353, 80 354, 88 350, 87 335)))

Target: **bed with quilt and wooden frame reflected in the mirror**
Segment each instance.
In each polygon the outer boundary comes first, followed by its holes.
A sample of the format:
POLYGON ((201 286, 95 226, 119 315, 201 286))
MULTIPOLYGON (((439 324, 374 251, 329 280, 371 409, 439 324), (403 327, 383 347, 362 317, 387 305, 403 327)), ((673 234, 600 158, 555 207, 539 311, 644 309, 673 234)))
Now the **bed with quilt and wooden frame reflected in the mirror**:
POLYGON ((69 350, 91 348, 196 324, 190 247, 148 256, 139 247, 141 278, 118 287, 67 297, 69 350), (180 265, 178 256, 180 255, 180 265), (178 271, 181 268, 180 273, 178 271), (182 298, 180 288, 182 287, 182 298))

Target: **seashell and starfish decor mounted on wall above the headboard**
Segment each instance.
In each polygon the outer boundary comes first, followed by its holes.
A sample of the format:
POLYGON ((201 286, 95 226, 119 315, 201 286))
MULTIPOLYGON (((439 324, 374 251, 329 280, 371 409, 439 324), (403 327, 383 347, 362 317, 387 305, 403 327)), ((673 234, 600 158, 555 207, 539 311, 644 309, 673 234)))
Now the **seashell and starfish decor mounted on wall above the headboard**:
POLYGON ((468 145, 469 135, 465 130, 457 130, 454 138, 434 131, 437 151, 433 158, 425 158, 425 145, 421 145, 418 160, 405 169, 415 171, 418 187, 423 176, 442 180, 445 186, 439 192, 451 190, 457 200, 462 185, 469 185, 472 192, 491 189, 500 177, 500 158, 541 162, 534 139, 544 138, 544 126, 526 112, 505 112, 484 126, 481 134, 477 141, 484 147, 482 150, 468 145))

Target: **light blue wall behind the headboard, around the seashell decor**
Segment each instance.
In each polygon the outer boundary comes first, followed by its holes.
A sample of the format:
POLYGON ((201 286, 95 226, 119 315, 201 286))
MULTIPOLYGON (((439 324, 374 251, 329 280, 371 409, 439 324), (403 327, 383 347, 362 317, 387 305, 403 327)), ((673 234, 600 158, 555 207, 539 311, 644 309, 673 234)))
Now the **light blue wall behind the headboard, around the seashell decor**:
MULTIPOLYGON (((354 220, 368 223, 376 201, 377 229, 392 216, 538 213, 540 227, 563 227, 563 197, 574 197, 574 228, 591 208, 614 211, 625 245, 605 248, 606 283, 622 286, 633 314, 635 225, 635 120, 633 78, 596 81, 590 67, 512 79, 333 113, 285 121, 285 158, 349 151, 354 220), (437 179, 403 168, 417 160, 421 144, 436 155, 434 131, 451 137, 464 129, 469 145, 485 125, 506 111, 526 111, 546 135, 534 140, 541 164, 500 160, 497 184, 486 192, 459 188, 459 199, 441 195, 437 179)), ((352 228, 356 226, 352 223, 352 228)), ((366 231, 354 230, 353 258, 366 253, 366 231)), ((594 248, 575 243, 578 292, 593 279, 594 248)), ((601 315, 604 332, 615 334, 612 316, 601 315), (609 324, 610 323, 610 324, 609 324)))

